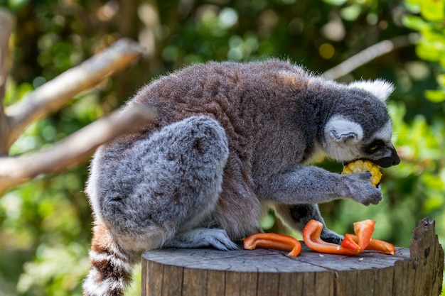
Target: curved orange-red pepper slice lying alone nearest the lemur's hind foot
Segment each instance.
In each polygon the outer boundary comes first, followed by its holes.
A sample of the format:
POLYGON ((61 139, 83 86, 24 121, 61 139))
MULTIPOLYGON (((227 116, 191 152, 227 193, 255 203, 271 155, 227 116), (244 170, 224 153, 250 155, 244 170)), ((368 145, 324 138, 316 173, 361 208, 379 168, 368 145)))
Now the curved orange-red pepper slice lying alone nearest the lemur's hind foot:
POLYGON ((292 236, 285 234, 252 234, 244 239, 244 248, 253 250, 254 248, 273 248, 275 250, 290 251, 287 256, 296 257, 301 252, 301 243, 292 236))

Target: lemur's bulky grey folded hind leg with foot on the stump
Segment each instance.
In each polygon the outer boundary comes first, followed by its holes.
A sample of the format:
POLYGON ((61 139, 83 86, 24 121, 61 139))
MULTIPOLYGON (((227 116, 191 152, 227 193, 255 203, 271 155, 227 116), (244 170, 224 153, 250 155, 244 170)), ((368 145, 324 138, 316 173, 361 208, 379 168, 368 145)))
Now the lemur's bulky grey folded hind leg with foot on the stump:
POLYGON ((237 248, 223 229, 202 228, 218 202, 229 154, 217 121, 207 116, 184 119, 129 149, 113 180, 122 192, 101 203, 102 212, 111 213, 107 224, 117 237, 134 237, 119 239, 121 243, 141 250, 237 248))

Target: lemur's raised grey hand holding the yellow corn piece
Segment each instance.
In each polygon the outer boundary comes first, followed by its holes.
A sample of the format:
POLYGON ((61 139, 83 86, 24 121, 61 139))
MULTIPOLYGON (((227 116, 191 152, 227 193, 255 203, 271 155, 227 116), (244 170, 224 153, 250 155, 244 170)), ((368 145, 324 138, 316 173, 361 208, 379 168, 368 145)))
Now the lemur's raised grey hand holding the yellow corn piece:
POLYGON ((356 202, 365 204, 378 204, 382 200, 382 191, 370 183, 370 172, 360 174, 343 175, 348 188, 346 197, 354 199, 356 202))

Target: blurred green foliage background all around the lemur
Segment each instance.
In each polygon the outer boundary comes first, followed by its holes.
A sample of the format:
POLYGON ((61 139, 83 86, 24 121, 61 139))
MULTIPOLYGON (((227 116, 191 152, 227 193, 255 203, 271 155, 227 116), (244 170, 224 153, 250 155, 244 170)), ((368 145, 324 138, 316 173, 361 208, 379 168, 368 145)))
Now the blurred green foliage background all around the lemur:
MULTIPOLYGON (((117 109, 168 72, 207 60, 279 57, 322 74, 382 40, 394 48, 338 77, 393 82, 393 140, 402 163, 383 169, 384 199, 321 205, 338 233, 374 219, 375 238, 409 248, 419 219, 436 220, 445 246, 445 0, 0 0, 16 27, 5 104, 122 37, 146 48, 143 59, 82 92, 62 111, 30 126, 11 148, 45 148, 117 109), (414 44, 416 43, 416 44, 414 44)), ((328 160, 320 165, 341 172, 328 160)), ((91 212, 82 190, 87 166, 45 175, 0 198, 0 295, 81 295, 89 268, 91 212)), ((266 231, 285 232, 273 213, 266 231)), ((298 237, 298 236, 297 236, 298 237)), ((128 295, 140 295, 139 268, 128 295)))

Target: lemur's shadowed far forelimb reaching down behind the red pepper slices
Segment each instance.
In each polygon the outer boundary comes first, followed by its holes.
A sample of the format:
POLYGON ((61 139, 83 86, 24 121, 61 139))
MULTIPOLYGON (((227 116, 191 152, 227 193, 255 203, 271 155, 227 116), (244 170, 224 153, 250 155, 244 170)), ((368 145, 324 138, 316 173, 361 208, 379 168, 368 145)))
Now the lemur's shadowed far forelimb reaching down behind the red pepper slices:
POLYGON ((301 232, 311 219, 315 219, 323 223, 323 230, 321 231, 321 239, 323 241, 330 243, 341 243, 343 241, 343 236, 326 227, 323 217, 318 210, 318 204, 274 204, 274 210, 283 223, 291 229, 301 232))

